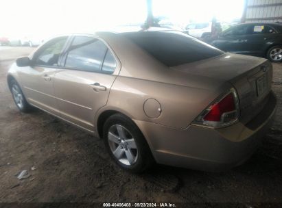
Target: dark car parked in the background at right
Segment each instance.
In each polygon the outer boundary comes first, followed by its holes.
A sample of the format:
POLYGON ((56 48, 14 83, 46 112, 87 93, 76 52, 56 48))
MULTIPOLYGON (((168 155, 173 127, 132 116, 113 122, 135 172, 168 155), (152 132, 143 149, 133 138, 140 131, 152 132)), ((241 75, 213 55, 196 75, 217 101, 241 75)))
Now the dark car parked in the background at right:
POLYGON ((206 42, 222 51, 268 57, 272 62, 282 61, 282 25, 278 23, 235 25, 206 42))

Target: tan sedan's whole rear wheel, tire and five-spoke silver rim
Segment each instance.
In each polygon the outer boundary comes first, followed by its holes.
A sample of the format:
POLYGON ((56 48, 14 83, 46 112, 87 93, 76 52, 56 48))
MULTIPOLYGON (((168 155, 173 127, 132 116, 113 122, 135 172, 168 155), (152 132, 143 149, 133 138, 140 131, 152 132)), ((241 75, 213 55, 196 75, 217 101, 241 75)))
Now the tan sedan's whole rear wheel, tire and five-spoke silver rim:
POLYGON ((103 138, 108 153, 121 168, 140 173, 152 166, 150 148, 130 118, 122 114, 110 116, 104 123, 103 138))

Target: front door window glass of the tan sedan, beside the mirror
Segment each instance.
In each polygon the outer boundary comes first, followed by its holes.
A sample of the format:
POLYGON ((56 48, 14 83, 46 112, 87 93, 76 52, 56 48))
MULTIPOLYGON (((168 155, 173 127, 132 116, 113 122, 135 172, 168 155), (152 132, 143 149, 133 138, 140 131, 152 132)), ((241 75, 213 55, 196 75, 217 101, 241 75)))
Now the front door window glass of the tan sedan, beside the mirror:
POLYGON ((67 42, 67 37, 56 38, 50 40, 46 47, 40 50, 39 55, 36 57, 35 64, 40 66, 58 66, 60 53, 67 42))

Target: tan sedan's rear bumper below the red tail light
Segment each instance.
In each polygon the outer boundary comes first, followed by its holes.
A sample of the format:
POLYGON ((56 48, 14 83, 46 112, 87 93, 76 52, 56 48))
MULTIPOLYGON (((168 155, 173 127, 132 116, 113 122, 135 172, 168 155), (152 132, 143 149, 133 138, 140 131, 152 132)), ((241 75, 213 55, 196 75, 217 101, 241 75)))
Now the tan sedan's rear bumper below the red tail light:
POLYGON ((254 153, 272 125, 276 98, 248 124, 237 122, 222 129, 189 126, 179 130, 135 120, 157 163, 196 170, 222 171, 242 164, 254 153))

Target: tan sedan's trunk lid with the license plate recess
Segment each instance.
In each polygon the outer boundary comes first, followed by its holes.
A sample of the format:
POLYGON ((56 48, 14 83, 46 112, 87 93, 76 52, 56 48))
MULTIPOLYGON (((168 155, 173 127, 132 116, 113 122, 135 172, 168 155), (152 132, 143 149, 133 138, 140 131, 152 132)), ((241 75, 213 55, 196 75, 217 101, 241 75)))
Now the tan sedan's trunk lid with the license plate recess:
POLYGON ((244 124, 259 114, 268 101, 272 65, 265 59, 224 53, 173 68, 191 75, 209 77, 220 83, 231 83, 239 96, 240 120, 244 124))

